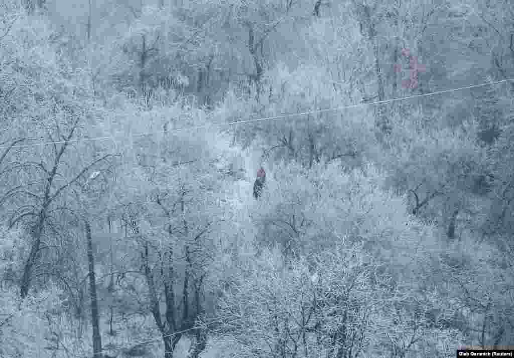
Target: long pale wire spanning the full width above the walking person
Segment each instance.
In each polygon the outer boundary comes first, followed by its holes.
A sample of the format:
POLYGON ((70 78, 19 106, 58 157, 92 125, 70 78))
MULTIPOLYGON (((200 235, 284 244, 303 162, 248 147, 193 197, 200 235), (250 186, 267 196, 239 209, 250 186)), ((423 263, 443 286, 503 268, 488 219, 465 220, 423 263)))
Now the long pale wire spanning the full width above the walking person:
MULTIPOLYGON (((318 113, 326 113, 326 112, 337 112, 347 109, 353 109, 353 108, 361 108, 368 105, 376 105, 376 104, 385 104, 385 103, 392 103, 407 99, 413 99, 413 98, 420 98, 420 97, 428 97, 428 96, 435 96, 440 95, 444 93, 451 93, 456 91, 462 91, 463 89, 470 89, 470 88, 479 88, 484 86, 489 86, 493 84, 500 84, 500 83, 506 83, 506 82, 512 82, 514 81, 514 78, 509 78, 506 80, 500 80, 500 81, 494 81, 494 82, 487 82, 487 83, 481 83, 481 84, 473 84, 470 86, 464 86, 464 87, 458 87, 458 88, 450 88, 450 89, 443 89, 442 91, 435 91, 430 93, 424 93, 420 95, 412 95, 412 96, 406 96, 406 97, 398 97, 393 99, 386 99, 381 101, 375 101, 375 102, 369 102, 369 103, 358 103, 358 104, 351 104, 351 105, 345 105, 342 107, 336 107, 336 108, 328 108, 324 110, 315 110, 315 111, 307 111, 307 112, 297 112, 297 113, 288 113, 288 114, 282 114, 278 116, 270 116, 270 117, 262 117, 262 118, 253 118, 253 119, 247 119, 247 120, 241 120, 237 122, 230 122, 230 123, 210 123, 210 124, 203 124, 201 126, 193 126, 193 127, 185 127, 185 128, 176 128, 173 130, 168 130, 168 133, 175 133, 175 132, 181 132, 181 131, 193 131, 197 129, 207 129, 212 127, 223 127, 223 126, 236 126, 238 124, 247 124, 247 123, 253 123, 253 122, 261 122, 261 121, 267 121, 267 120, 276 120, 276 119, 283 119, 288 117, 294 117, 294 116, 305 116, 310 114, 318 114, 318 113)), ((118 132, 116 134, 119 134, 121 132, 118 132)), ((135 137, 142 137, 145 135, 152 135, 161 133, 161 131, 158 132, 146 132, 146 133, 139 133, 139 134, 132 134, 131 136, 133 138, 135 137)), ((8 148, 27 148, 27 147, 36 147, 36 146, 50 146, 50 145, 56 145, 56 144, 65 144, 65 143, 75 143, 75 142, 87 142, 87 141, 97 141, 97 140, 116 140, 114 139, 114 134, 109 136, 102 136, 102 137, 93 137, 93 138, 80 138, 80 139, 70 139, 70 140, 57 140, 57 141, 48 141, 48 142, 39 142, 39 143, 32 143, 32 144, 21 144, 21 145, 15 145, 15 146, 1 146, 1 149, 8 149, 8 148)))

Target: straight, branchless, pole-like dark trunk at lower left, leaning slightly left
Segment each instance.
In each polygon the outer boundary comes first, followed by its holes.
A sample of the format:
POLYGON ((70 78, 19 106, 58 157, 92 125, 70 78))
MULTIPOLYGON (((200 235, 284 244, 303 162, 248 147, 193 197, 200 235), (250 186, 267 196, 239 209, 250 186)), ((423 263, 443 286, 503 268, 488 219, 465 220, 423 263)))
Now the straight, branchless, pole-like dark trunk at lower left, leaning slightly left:
POLYGON ((89 265, 89 296, 91 299, 91 324, 93 325, 93 353, 95 358, 102 357, 102 337, 100 335, 100 318, 96 292, 95 257, 93 256, 93 238, 91 225, 85 220, 87 240, 87 262, 89 265))

